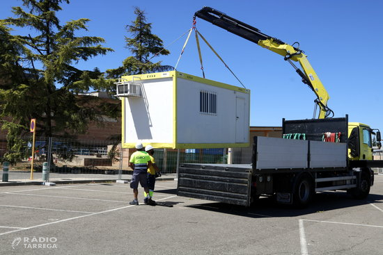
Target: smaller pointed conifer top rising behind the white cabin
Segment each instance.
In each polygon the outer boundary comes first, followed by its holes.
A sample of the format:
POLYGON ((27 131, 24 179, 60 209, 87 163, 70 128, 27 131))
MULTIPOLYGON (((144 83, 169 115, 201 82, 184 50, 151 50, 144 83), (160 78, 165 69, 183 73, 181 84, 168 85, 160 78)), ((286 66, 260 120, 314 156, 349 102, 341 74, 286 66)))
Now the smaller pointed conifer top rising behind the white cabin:
POLYGON ((155 56, 169 55, 170 52, 164 49, 162 40, 152 33, 152 24, 147 23, 145 12, 138 7, 134 8, 136 19, 131 25, 127 25, 127 32, 132 38, 125 36, 127 49, 130 49, 132 56, 123 60, 123 66, 107 70, 107 78, 118 79, 123 75, 146 74, 148 72, 163 72, 173 69, 161 62, 153 63, 150 60, 155 56))

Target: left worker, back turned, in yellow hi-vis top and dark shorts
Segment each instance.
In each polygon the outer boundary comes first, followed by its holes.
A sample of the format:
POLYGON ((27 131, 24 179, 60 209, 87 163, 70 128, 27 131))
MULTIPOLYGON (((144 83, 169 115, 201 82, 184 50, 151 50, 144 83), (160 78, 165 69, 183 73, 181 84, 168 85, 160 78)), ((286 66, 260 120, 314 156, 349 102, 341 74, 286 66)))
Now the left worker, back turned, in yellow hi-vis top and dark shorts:
MULTIPOLYGON (((144 150, 141 142, 136 143, 137 151, 130 156, 129 166, 134 170, 130 188, 133 189, 134 200, 129 204, 139 205, 139 183, 145 192, 149 193, 147 172, 148 167, 152 165, 149 154, 144 150)), ((151 197, 148 199, 148 204, 155 205, 151 197)))

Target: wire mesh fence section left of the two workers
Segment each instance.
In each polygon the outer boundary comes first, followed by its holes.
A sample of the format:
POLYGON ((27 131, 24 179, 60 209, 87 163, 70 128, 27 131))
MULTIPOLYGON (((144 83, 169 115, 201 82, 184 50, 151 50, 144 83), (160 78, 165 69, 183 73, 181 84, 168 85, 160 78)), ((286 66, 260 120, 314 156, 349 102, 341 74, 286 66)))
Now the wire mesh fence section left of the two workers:
POLYGON ((50 173, 68 180, 75 176, 70 174, 109 174, 120 168, 119 141, 36 137, 33 160, 32 141, 31 135, 10 142, 0 137, 0 162, 10 163, 10 181, 41 179, 44 162, 50 173))

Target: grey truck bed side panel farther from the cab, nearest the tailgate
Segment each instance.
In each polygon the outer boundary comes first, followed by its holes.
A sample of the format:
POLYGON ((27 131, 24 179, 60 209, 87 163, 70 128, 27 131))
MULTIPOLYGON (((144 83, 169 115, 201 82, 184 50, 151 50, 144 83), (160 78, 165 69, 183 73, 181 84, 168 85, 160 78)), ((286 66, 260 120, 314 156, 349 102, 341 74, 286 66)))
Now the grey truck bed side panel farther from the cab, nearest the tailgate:
POLYGON ((257 138, 257 169, 307 168, 308 142, 282 138, 257 138))

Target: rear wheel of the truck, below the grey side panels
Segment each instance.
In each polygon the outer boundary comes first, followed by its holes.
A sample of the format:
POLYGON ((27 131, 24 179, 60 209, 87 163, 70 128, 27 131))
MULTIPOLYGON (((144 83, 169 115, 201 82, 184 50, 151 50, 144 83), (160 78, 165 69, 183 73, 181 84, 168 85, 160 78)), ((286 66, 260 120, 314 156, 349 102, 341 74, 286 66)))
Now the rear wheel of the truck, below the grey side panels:
POLYGON ((295 183, 292 202, 295 206, 306 206, 313 198, 313 194, 313 181, 306 175, 301 176, 295 183))

